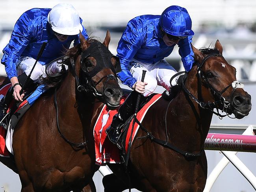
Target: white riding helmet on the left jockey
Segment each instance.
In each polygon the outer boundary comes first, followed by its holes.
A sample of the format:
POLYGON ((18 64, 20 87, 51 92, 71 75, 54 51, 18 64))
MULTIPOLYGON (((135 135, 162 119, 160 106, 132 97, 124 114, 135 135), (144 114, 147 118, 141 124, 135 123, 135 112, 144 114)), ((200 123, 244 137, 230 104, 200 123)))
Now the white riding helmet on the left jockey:
POLYGON ((54 6, 48 14, 48 22, 53 31, 62 35, 77 35, 83 31, 78 12, 70 4, 54 6))

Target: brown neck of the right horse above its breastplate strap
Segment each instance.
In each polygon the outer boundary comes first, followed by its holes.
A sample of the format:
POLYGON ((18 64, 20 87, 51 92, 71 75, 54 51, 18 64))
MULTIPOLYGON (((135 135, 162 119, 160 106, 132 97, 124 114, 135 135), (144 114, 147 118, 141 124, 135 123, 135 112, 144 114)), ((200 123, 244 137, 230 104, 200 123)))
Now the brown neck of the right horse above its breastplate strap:
MULTIPOLYGON (((197 84, 197 74, 196 68, 192 68, 189 72, 185 86, 196 98, 200 98, 198 94, 198 84, 197 84)), ((208 90, 202 87, 202 97, 209 98, 208 90)), ((207 102, 207 101, 206 101, 207 102)), ((197 102, 195 102, 190 96, 188 96, 184 91, 181 91, 178 96, 173 100, 173 103, 168 109, 170 116, 176 114, 173 117, 173 121, 176 122, 175 130, 173 123, 170 122, 170 137, 173 140, 178 140, 180 144, 183 143, 182 149, 187 148, 187 151, 199 152, 203 149, 205 138, 208 134, 212 112, 206 109, 202 109, 197 102), (179 107, 178 107, 179 106, 179 107), (176 135, 176 137, 173 137, 176 135), (184 140, 186 142, 184 142, 184 140), (187 145, 190 143, 190 145, 187 145)))

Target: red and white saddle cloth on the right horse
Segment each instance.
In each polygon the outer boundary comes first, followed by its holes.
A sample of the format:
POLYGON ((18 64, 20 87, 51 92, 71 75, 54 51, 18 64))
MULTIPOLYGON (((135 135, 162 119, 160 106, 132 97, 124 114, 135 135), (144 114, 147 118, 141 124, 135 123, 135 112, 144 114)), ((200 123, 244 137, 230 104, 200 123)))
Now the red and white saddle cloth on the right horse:
MULTIPOLYGON (((142 109, 137 113, 137 119, 139 122, 142 122, 145 114, 147 113, 148 109, 161 98, 161 94, 154 95, 151 100, 146 103, 142 107, 142 109)), ((125 98, 121 99, 120 105, 124 102, 125 98)), ((94 126, 94 139, 95 139, 95 153, 96 153, 96 164, 97 165, 106 165, 106 163, 120 163, 120 156, 119 156, 119 149, 117 146, 112 144, 107 135, 106 135, 106 129, 111 125, 111 122, 113 120, 113 116, 117 114, 118 109, 116 110, 109 110, 107 109, 107 106, 104 105, 100 115, 98 116, 98 119, 96 120, 95 126, 94 126)), ((134 140, 134 137, 138 131, 139 125, 135 123, 134 126, 134 132, 132 134, 132 141, 134 140)), ((132 130, 132 123, 130 124, 128 128, 128 133, 126 136, 126 151, 128 149, 128 141, 130 138, 132 130)))

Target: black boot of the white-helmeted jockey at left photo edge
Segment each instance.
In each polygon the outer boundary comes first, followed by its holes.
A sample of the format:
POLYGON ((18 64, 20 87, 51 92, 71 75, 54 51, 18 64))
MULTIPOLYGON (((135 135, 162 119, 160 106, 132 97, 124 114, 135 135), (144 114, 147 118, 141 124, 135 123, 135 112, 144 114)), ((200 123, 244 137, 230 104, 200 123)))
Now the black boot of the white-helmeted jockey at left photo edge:
POLYGON ((4 127, 4 129, 7 129, 7 120, 6 120, 6 111, 8 109, 8 105, 11 102, 13 94, 13 87, 10 87, 7 92, 6 96, 4 96, 0 101, 0 126, 4 127))

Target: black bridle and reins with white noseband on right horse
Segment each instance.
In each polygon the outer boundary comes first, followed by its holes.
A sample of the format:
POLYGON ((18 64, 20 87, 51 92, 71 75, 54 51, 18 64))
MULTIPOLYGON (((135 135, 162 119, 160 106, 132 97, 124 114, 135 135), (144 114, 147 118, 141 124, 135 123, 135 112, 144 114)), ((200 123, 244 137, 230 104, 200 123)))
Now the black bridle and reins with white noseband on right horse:
POLYGON ((232 112, 228 112, 228 110, 232 110, 231 109, 231 106, 232 106, 232 103, 231 101, 226 101, 226 99, 222 96, 222 94, 229 88, 229 87, 232 87, 233 88, 233 91, 230 95, 230 100, 232 100, 233 98, 233 94, 234 94, 234 91, 237 89, 237 88, 243 88, 243 84, 242 83, 239 83, 239 81, 233 81, 230 85, 228 85, 227 87, 225 87, 221 92, 217 91, 211 84, 210 82, 208 81, 208 78, 204 75, 204 73, 202 72, 201 70, 201 67, 202 65, 204 64, 204 62, 209 58, 209 57, 213 57, 213 56, 218 56, 218 57, 223 57, 221 54, 210 54, 210 55, 207 55, 206 57, 204 57, 203 61, 201 64, 198 63, 198 66, 197 66, 197 77, 198 77, 198 93, 200 95, 200 97, 202 98, 202 83, 205 84, 206 87, 210 88, 210 91, 211 91, 211 94, 213 95, 214 99, 215 99, 215 102, 210 102, 208 101, 208 103, 204 103, 200 100, 198 100, 193 94, 191 94, 191 92, 186 88, 184 82, 186 80, 186 78, 182 79, 182 88, 183 90, 195 101, 197 102, 200 107, 202 109, 208 109, 210 110, 213 114, 216 114, 220 119, 222 119, 224 116, 228 116, 229 118, 235 118, 235 117, 231 117, 230 114, 232 114, 232 112), (226 114, 225 115, 221 115, 219 113, 219 108, 218 106, 222 105, 223 108, 222 108, 222 113, 225 112, 226 114), (214 109, 217 110, 217 112, 213 111, 214 109))

